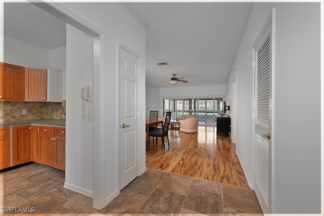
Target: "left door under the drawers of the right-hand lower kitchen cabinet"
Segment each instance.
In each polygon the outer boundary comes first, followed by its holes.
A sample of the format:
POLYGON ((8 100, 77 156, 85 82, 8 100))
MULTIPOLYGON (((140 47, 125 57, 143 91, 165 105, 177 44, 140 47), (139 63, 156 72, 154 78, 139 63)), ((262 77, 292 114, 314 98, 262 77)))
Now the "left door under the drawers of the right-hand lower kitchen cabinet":
POLYGON ((54 167, 55 140, 53 135, 38 134, 38 163, 54 167))

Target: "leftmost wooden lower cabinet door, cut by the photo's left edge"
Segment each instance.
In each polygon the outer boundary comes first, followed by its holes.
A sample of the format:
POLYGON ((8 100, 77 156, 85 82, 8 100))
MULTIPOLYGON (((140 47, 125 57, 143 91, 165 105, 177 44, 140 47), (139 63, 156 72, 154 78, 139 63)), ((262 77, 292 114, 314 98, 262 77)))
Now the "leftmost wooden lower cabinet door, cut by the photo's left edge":
POLYGON ((10 128, 0 128, 0 169, 10 166, 10 128))

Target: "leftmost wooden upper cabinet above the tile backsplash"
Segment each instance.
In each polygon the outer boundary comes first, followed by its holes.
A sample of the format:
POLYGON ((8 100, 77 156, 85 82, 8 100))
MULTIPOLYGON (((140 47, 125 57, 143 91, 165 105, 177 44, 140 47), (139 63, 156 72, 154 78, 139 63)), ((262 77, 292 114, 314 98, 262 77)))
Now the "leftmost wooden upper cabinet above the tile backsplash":
POLYGON ((0 62, 0 100, 23 101, 24 86, 25 68, 0 62))

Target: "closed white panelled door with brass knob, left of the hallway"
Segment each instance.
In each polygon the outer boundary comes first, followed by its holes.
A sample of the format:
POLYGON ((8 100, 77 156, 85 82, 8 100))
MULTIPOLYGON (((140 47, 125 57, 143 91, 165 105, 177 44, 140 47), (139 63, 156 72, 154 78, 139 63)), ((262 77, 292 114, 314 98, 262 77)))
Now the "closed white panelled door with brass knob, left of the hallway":
POLYGON ((120 190, 139 174, 139 58, 119 48, 120 190))

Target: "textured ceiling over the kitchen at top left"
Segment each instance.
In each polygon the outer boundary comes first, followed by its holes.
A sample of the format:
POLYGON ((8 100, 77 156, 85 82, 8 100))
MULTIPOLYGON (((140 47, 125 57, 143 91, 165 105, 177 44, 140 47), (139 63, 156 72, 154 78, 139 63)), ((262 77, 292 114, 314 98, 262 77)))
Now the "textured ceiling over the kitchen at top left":
POLYGON ((66 44, 66 23, 30 3, 4 3, 4 34, 46 50, 66 44))

